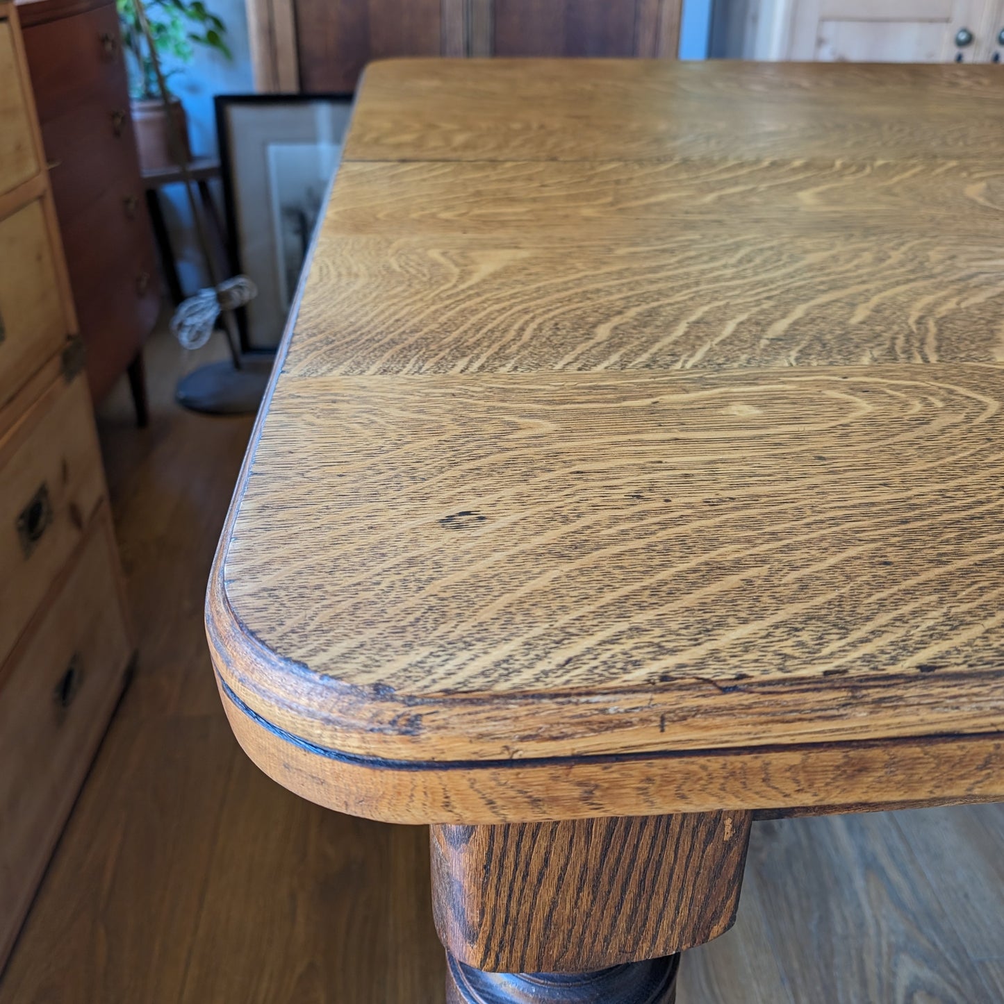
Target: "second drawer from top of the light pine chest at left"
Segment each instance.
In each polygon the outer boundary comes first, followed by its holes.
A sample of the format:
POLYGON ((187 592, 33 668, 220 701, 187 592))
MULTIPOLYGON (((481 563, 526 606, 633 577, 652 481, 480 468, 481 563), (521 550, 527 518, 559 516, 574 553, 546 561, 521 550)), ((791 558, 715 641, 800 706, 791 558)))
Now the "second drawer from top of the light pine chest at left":
POLYGON ((41 201, 0 220, 0 262, 2 408, 69 333, 41 201))

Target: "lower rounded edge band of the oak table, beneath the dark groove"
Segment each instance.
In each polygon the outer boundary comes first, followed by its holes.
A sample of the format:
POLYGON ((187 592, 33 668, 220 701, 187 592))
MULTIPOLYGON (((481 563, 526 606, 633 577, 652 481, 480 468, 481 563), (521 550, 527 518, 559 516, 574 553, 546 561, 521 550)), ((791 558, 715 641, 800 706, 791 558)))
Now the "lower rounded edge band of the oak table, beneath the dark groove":
POLYGON ((422 763, 347 757, 234 704, 244 752, 304 798, 386 822, 497 823, 793 805, 1004 800, 1004 734, 635 757, 422 763))

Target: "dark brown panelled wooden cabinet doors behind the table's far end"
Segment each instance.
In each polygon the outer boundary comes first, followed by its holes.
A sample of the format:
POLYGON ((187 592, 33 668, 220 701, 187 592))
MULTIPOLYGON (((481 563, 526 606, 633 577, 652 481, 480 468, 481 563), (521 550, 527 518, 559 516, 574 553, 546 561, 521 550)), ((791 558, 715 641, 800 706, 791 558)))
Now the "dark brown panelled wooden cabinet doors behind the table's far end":
MULTIPOLYGON (((283 79, 269 47, 281 0, 249 0, 261 89, 283 79), (261 11, 254 13, 260 6, 261 11), (256 27, 257 26, 257 27, 256 27), (259 30, 261 29, 261 30, 259 30)), ((291 0, 300 89, 351 91, 391 56, 674 57, 681 0, 291 0)), ((288 78, 288 74, 285 75, 288 78)))

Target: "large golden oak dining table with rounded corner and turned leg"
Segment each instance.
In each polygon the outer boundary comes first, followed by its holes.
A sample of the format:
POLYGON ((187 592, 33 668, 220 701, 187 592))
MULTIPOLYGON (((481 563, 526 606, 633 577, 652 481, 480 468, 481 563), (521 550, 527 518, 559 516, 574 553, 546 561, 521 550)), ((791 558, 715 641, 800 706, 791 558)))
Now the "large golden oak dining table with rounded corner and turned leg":
POLYGON ((451 1004, 665 1004, 758 817, 1004 798, 1002 107, 367 69, 206 623, 266 774, 431 827, 451 1004))

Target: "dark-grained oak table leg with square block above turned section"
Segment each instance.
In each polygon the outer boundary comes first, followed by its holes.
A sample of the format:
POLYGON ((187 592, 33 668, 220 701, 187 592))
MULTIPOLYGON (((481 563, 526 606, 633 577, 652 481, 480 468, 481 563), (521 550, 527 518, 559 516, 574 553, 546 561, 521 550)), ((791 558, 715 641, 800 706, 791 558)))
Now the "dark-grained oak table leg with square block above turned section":
POLYGON ((449 1004, 671 1004, 736 918, 749 812, 432 827, 449 1004))

